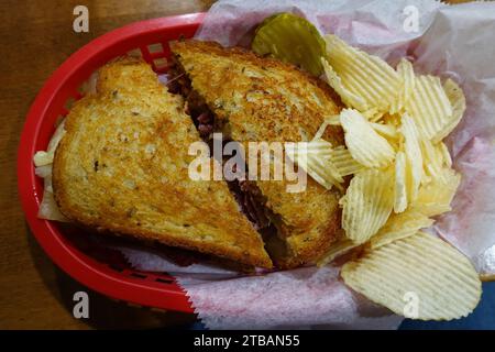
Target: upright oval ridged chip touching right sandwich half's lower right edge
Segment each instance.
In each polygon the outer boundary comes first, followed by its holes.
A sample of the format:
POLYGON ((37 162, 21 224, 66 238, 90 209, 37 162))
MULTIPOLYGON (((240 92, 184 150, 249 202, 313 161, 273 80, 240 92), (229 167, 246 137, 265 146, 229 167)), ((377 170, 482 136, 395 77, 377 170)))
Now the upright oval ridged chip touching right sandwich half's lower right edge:
POLYGON ((345 193, 342 229, 356 244, 366 242, 387 221, 394 207, 392 169, 366 169, 356 174, 345 193))

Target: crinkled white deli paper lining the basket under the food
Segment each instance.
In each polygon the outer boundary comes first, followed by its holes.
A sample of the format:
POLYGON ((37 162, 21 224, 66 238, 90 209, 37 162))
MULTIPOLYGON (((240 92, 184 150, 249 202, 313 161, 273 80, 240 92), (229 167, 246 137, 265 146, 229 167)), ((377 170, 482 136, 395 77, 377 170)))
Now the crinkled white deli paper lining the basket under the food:
MULTIPOLYGON (((462 86, 468 110, 447 141, 462 183, 453 210, 432 230, 471 257, 481 272, 493 270, 495 246, 486 250, 495 243, 495 3, 227 0, 213 4, 196 37, 248 46, 264 18, 285 11, 392 65, 408 56, 417 72, 451 77, 462 86)), ((338 267, 240 277, 198 264, 178 268, 160 256, 122 251, 138 268, 175 275, 211 329, 391 329, 402 321, 346 288, 338 267)))

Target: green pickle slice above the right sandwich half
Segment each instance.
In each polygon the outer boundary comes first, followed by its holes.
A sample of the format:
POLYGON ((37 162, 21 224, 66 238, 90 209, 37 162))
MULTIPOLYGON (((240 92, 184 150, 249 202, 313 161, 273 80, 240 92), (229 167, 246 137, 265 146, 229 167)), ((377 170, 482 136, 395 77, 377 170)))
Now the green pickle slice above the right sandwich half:
POLYGON ((297 65, 315 76, 323 73, 324 41, 315 25, 295 14, 266 18, 256 29, 251 46, 258 55, 297 65))

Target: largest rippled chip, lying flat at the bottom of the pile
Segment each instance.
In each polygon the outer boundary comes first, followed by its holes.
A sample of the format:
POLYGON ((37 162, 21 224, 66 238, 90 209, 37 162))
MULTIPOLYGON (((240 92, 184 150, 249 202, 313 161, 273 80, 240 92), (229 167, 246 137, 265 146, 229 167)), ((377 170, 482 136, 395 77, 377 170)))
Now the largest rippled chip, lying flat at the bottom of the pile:
POLYGON ((417 232, 348 262, 344 283, 397 315, 420 320, 468 316, 481 298, 471 262, 453 246, 417 232))

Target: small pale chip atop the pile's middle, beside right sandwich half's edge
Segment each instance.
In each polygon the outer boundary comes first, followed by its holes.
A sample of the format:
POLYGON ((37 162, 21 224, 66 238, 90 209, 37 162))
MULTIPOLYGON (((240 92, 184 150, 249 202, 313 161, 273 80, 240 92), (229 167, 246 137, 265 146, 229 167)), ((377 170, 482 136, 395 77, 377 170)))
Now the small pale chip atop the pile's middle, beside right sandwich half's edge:
POLYGON ((359 111, 344 109, 340 113, 345 145, 353 158, 367 167, 384 167, 392 163, 395 152, 359 111))

